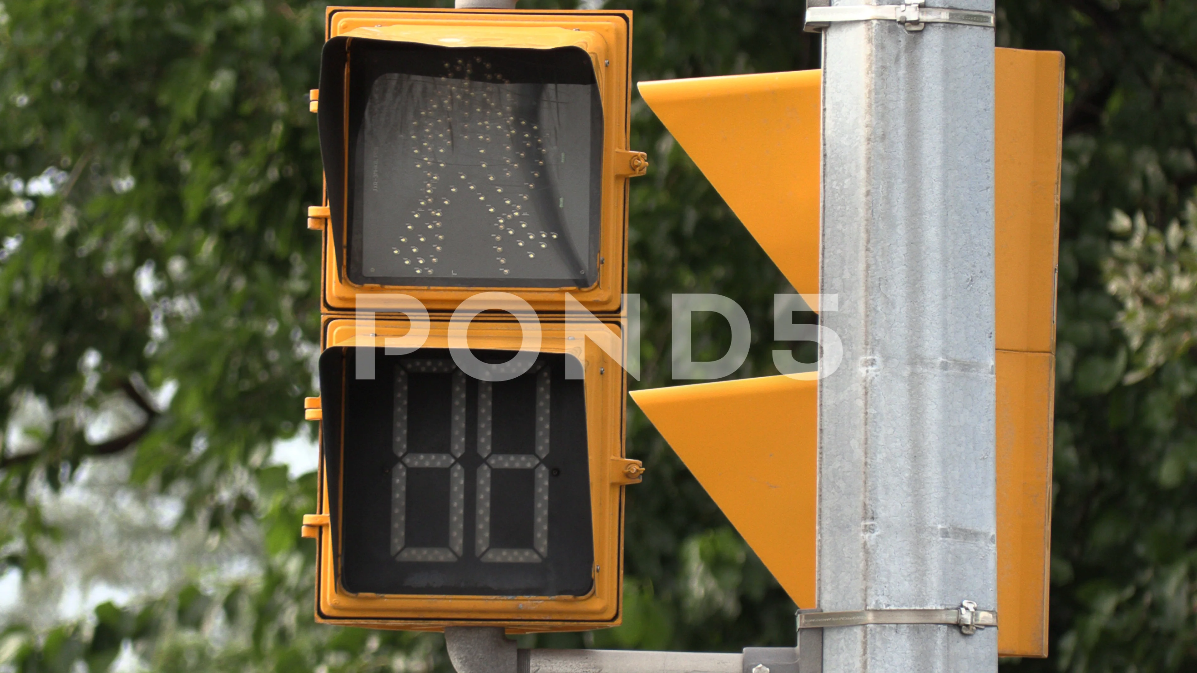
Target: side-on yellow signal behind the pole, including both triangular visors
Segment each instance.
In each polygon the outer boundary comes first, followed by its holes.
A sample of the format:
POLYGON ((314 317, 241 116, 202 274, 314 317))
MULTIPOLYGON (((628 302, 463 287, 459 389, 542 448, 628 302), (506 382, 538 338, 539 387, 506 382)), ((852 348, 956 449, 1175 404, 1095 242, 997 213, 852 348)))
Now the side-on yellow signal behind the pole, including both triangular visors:
MULTIPOLYGON (((1055 51, 997 49, 997 589, 1004 656, 1047 655, 1063 66, 1055 51)), ((818 293, 818 71, 639 89, 794 287, 818 293), (766 137, 772 141, 764 143, 766 137)), ((798 384, 776 394, 794 398, 798 384)), ((815 384, 802 398, 804 407, 797 398, 783 406, 764 402, 762 390, 786 384, 760 378, 642 390, 633 399, 790 598, 816 607, 816 517, 813 507, 800 507, 815 501, 815 384), (803 489, 810 491, 798 496, 803 489), (785 497, 791 501, 783 508, 785 497), (777 540, 786 536, 794 546, 783 554, 777 540)))

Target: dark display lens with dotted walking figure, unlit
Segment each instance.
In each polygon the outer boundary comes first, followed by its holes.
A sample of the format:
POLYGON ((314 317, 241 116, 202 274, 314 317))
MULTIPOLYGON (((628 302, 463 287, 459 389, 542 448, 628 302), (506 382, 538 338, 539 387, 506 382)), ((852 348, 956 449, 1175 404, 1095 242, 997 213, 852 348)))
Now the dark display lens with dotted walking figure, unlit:
POLYGON ((356 49, 351 280, 594 285, 603 116, 584 50, 356 49))

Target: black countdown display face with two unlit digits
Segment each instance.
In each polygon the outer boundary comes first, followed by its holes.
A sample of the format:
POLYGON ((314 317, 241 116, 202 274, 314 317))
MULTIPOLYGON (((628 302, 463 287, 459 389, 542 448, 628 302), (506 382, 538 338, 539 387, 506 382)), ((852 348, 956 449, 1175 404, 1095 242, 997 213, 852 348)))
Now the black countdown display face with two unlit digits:
MULTIPOLYGON (((475 351, 502 363, 511 352, 475 351)), ((347 360, 354 356, 348 348, 347 360)), ((510 381, 445 350, 345 368, 342 584, 353 593, 585 595, 594 540, 585 400, 564 354, 510 381)))

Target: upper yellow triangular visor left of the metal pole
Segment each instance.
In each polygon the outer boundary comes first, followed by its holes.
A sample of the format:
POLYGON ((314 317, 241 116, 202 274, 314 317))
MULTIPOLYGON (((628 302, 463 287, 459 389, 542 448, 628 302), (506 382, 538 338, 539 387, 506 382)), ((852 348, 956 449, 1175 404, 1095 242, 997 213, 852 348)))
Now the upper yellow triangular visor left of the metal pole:
POLYGON ((819 293, 821 78, 795 71, 637 85, 802 295, 819 293))

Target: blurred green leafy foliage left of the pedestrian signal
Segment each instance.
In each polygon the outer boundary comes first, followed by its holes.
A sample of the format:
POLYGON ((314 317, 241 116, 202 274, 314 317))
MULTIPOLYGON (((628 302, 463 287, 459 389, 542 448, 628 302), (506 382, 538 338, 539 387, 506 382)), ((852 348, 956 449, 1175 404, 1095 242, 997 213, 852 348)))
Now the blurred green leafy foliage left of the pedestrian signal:
POLYGON ((49 633, 12 624, 11 666, 435 660, 407 635, 315 627, 314 550, 297 535, 315 478, 267 461, 272 439, 297 432, 312 381, 320 254, 303 208, 320 196, 306 91, 322 25, 315 4, 0 8, 0 425, 12 430, 16 410, 26 431, 10 432, 0 463, 6 563, 44 570, 55 529, 30 490, 98 456, 176 493, 180 527, 219 540, 253 523, 265 547, 250 581, 102 605, 49 633), (38 423, 25 423, 31 407, 45 410, 38 423), (221 624, 231 635, 214 638, 221 624))

